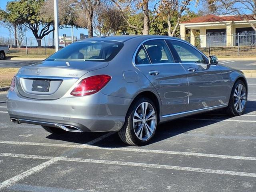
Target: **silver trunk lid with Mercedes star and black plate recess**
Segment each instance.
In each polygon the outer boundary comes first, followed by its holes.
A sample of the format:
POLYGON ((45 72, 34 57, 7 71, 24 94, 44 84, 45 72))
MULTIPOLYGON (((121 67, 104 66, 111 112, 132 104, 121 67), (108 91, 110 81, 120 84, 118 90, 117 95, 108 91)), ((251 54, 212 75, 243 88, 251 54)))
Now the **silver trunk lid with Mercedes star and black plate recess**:
POLYGON ((106 66, 108 62, 45 60, 20 68, 16 87, 27 98, 58 99, 84 74, 106 66))

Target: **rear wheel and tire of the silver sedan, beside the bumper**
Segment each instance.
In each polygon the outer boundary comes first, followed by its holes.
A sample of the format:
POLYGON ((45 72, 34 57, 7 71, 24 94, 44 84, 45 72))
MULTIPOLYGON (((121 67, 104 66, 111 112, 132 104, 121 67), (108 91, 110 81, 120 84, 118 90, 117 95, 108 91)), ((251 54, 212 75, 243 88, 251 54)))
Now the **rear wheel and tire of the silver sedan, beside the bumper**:
POLYGON ((128 145, 143 146, 154 137, 157 121, 158 114, 152 100, 138 98, 131 104, 118 135, 128 145), (142 112, 143 107, 146 113, 142 112))

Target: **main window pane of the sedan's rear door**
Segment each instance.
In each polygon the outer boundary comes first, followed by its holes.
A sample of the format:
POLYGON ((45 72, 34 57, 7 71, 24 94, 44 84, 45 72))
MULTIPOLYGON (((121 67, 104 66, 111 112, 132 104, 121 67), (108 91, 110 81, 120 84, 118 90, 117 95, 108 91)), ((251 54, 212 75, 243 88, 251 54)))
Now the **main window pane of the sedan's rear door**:
POLYGON ((173 63, 174 60, 164 40, 151 40, 144 43, 152 63, 173 63))

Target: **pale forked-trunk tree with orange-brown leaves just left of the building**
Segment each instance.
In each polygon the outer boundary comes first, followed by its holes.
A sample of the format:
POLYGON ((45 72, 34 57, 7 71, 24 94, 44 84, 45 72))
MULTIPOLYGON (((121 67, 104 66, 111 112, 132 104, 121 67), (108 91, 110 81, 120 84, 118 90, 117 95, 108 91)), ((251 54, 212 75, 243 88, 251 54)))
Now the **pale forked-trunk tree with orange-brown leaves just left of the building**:
MULTIPOLYGON (((188 6, 193 0, 161 0, 158 7, 158 16, 167 19, 168 36, 174 36, 184 11, 188 10, 188 6), (177 21, 172 30, 171 18, 176 17, 177 21)), ((196 4, 198 0, 195 0, 196 4)))

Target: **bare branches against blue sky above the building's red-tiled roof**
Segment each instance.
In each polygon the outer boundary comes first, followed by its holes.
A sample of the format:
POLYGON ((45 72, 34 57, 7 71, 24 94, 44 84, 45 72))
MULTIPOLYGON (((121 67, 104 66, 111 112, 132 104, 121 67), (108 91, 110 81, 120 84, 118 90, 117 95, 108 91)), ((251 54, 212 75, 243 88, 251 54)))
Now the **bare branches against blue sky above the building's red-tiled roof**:
POLYGON ((237 14, 256 31, 256 0, 206 0, 209 10, 214 14, 237 14))

